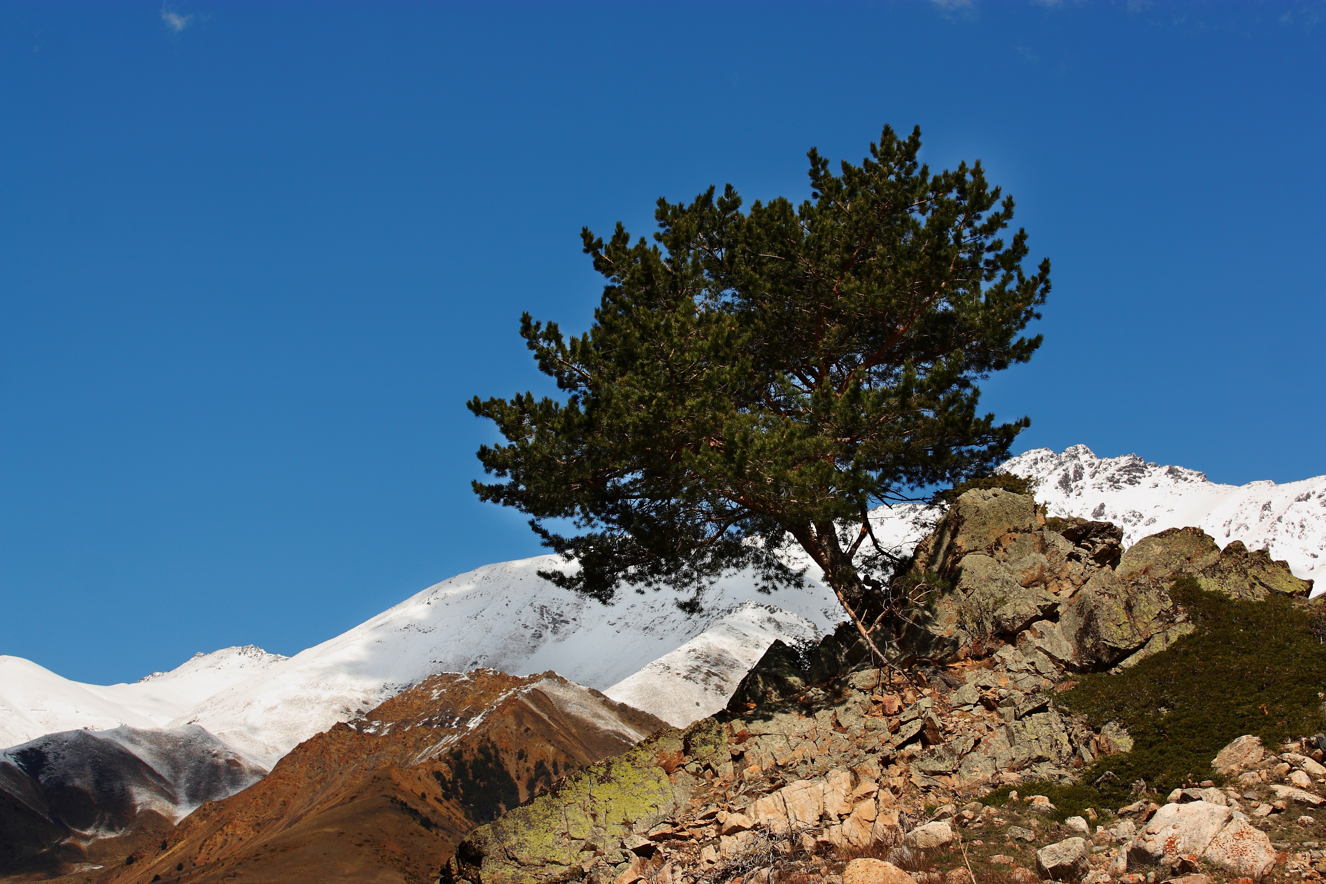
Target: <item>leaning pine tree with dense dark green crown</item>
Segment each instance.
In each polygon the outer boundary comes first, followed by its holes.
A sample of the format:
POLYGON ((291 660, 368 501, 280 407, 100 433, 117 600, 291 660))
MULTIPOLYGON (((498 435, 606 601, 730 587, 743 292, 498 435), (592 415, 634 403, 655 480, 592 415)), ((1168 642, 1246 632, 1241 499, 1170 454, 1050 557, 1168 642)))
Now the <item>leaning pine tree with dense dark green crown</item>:
POLYGON ((579 563, 544 577, 602 602, 743 566, 798 586, 780 557, 798 545, 874 648, 898 557, 867 509, 1006 457, 1030 421, 979 416, 976 382, 1030 359, 1050 289, 1049 260, 1024 272, 1025 231, 1000 237, 1013 200, 980 162, 931 175, 920 146, 886 126, 839 175, 812 150, 800 207, 743 212, 731 184, 659 199, 652 244, 582 231, 607 278, 591 329, 520 327, 565 402, 469 402, 507 440, 479 449, 503 481, 475 492, 579 563))

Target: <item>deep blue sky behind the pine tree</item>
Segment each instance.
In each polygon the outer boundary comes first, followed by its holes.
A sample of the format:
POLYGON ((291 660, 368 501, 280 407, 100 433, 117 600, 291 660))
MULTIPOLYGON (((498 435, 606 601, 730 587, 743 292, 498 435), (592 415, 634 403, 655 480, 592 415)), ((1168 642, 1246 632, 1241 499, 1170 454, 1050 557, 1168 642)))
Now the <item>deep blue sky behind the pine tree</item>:
POLYGON ((1018 451, 1326 473, 1326 7, 0 5, 0 653, 294 653, 538 553, 475 395, 548 390, 581 225, 922 126, 1054 290, 1018 451))

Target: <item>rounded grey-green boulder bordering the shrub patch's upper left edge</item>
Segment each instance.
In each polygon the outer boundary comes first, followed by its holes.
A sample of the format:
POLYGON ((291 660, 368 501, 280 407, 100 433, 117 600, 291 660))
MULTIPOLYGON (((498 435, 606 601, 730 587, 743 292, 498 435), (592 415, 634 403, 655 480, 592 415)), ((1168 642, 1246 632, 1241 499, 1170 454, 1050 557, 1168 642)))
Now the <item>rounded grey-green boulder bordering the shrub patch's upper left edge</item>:
MULTIPOLYGON (((1139 541, 1138 546, 1144 541, 1139 541)), ((1136 549, 1134 546, 1132 549, 1136 549)), ((1124 554, 1126 565, 1130 549, 1124 554)), ((1136 577, 1138 571, 1131 571, 1136 577)), ((1174 624, 1174 602, 1156 582, 1122 579, 1097 571, 1059 616, 1063 636, 1077 648, 1078 665, 1102 669, 1140 649, 1174 624)))

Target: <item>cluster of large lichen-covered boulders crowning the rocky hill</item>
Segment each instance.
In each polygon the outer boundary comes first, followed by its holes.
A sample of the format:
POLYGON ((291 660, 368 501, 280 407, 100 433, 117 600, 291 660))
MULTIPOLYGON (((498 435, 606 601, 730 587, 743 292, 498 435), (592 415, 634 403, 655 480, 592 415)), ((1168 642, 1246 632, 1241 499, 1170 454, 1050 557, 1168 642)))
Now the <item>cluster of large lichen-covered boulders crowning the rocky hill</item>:
MULTIPOLYGON (((1127 551, 1122 537, 1109 522, 1041 518, 1026 496, 967 492, 895 579, 903 610, 884 618, 875 643, 900 665, 949 663, 1016 643, 1073 669, 1127 668, 1192 632, 1168 594, 1180 577, 1240 599, 1305 596, 1311 588, 1265 551, 1238 542, 1221 551, 1200 529, 1170 529, 1127 551)), ((821 660, 815 675, 831 676, 830 661, 859 663, 862 644, 850 630, 826 639, 810 655, 821 660)), ((817 681, 806 657, 780 655, 757 664, 751 679, 817 681)), ((739 691, 747 704, 760 694, 754 684, 739 691)))

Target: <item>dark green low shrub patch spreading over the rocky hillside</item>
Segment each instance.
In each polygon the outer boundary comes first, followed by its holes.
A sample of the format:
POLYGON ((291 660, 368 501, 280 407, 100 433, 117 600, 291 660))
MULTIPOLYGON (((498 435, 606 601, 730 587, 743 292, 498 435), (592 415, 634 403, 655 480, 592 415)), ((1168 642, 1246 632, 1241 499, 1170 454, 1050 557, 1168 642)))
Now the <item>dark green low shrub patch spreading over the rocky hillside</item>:
MULTIPOLYGON (((1048 795, 1059 815, 1086 807, 1119 807, 1132 783, 1151 791, 1216 779, 1211 759, 1242 734, 1274 750, 1290 737, 1326 730, 1326 645, 1313 635, 1310 608, 1278 594, 1262 602, 1203 591, 1181 578, 1170 590, 1197 631, 1119 675, 1083 676, 1059 702, 1086 713, 1094 726, 1119 721, 1132 751, 1105 755, 1082 771, 1081 783, 1026 783, 1024 794, 1048 795), (1099 781, 1099 785, 1094 785, 1099 781)), ((1009 789, 987 799, 998 803, 1009 789)))

